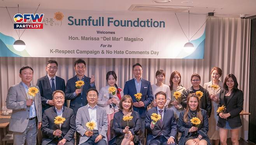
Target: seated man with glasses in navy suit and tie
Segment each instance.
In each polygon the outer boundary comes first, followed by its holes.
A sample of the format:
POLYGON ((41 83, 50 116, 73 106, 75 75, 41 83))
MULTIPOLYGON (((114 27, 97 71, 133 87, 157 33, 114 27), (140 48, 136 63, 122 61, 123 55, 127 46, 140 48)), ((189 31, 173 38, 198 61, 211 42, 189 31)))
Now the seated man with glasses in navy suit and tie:
POLYGON ((157 107, 147 112, 145 127, 148 130, 147 145, 175 145, 174 136, 177 133, 177 125, 173 110, 165 107, 166 94, 158 92, 155 94, 157 107), (151 114, 161 115, 161 119, 153 124, 151 114))

